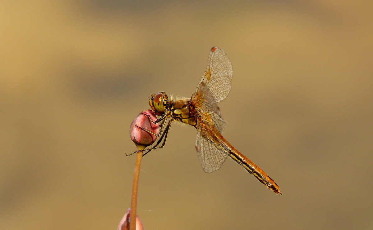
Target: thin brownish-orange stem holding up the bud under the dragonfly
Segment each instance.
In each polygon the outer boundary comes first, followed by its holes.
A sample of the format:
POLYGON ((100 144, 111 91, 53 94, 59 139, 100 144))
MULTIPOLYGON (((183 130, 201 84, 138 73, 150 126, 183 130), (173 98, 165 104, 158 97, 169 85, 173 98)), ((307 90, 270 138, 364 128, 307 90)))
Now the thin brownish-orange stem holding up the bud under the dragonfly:
POLYGON ((136 230, 137 190, 138 190, 138 185, 139 185, 141 159, 142 159, 142 151, 137 152, 137 155, 136 155, 134 183, 132 184, 131 213, 129 215, 129 229, 130 230, 136 230))

